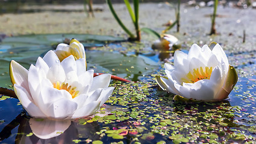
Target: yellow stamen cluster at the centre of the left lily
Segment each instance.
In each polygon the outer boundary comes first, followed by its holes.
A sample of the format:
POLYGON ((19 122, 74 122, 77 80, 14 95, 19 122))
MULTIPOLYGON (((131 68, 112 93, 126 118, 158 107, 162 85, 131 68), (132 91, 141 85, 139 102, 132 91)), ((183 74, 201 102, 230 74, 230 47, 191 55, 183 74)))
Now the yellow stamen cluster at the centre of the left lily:
POLYGON ((61 90, 61 89, 64 89, 66 90, 67 92, 69 92, 69 94, 72 95, 72 98, 75 98, 78 96, 78 93, 79 91, 76 91, 76 87, 72 87, 72 86, 69 86, 68 83, 60 83, 60 82, 55 82, 54 83, 54 88, 55 89, 58 89, 58 90, 61 90))

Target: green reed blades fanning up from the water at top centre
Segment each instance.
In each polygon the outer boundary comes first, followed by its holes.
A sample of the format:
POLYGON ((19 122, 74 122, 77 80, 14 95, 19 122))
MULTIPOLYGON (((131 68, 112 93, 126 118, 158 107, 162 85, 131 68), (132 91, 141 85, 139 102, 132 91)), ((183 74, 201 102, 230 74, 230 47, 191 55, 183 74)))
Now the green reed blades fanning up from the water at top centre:
POLYGON ((108 7, 110 8, 111 13, 114 16, 114 19, 116 19, 117 23, 122 27, 122 29, 129 35, 129 40, 131 41, 140 41, 140 28, 139 28, 139 0, 133 0, 134 5, 134 11, 131 8, 130 2, 128 0, 123 0, 125 2, 126 8, 128 9, 131 20, 133 20, 134 27, 136 29, 136 36, 128 29, 125 25, 123 25, 122 21, 119 19, 119 17, 116 14, 116 11, 114 11, 113 5, 111 3, 111 0, 106 0, 108 7))

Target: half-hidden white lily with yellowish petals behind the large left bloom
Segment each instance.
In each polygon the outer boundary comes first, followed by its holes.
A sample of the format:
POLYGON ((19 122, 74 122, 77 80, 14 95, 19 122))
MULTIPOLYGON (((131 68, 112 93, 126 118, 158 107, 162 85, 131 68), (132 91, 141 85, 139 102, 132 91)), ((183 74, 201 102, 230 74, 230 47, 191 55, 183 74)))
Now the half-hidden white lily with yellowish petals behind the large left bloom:
POLYGON ((84 50, 83 44, 81 44, 75 38, 70 40, 69 45, 64 43, 58 44, 54 52, 56 53, 60 61, 63 61, 63 59, 67 58, 70 55, 73 55, 76 60, 80 58, 86 59, 86 52, 84 50))

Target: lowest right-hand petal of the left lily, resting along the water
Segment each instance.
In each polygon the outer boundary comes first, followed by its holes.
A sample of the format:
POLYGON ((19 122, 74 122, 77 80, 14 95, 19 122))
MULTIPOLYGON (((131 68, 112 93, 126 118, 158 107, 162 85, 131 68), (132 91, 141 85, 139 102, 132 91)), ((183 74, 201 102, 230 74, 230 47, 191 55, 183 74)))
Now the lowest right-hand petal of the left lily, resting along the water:
POLYGON ((89 115, 93 115, 97 110, 99 110, 100 104, 101 101, 92 101, 92 103, 89 103, 86 106, 77 109, 75 113, 73 113, 72 119, 83 118, 89 115))

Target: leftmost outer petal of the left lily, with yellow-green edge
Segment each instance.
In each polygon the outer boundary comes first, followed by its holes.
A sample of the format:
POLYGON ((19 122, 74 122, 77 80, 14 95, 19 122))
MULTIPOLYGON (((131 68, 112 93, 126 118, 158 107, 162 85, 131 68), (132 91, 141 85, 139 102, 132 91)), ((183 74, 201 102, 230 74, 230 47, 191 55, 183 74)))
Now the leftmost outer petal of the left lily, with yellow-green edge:
POLYGON ((25 88, 28 92, 30 91, 28 88, 28 70, 16 61, 11 61, 10 63, 10 77, 13 84, 16 83, 25 88))

